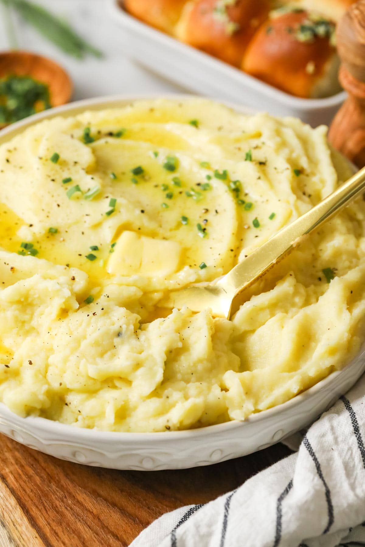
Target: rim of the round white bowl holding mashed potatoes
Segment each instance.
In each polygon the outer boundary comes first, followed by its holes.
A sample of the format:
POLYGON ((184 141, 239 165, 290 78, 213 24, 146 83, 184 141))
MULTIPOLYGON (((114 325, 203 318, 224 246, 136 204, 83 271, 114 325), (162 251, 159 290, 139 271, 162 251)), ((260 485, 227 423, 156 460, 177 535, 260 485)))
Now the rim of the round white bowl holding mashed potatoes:
MULTIPOLYGON (((59 107, 54 107, 38 114, 33 114, 32 116, 25 118, 24 120, 16 121, 14 124, 11 124, 5 129, 0 131, 0 145, 7 142, 9 139, 19 135, 22 131, 26 130, 28 127, 31 127, 37 124, 39 121, 56 118, 59 115, 62 117, 67 117, 68 115, 78 114, 85 112, 88 109, 91 110, 102 110, 108 108, 117 108, 122 107, 128 103, 133 103, 140 100, 148 100, 153 98, 161 98, 168 100, 184 101, 184 100, 194 100, 196 98, 205 98, 198 95, 189 95, 189 94, 175 94, 175 93, 165 93, 161 94, 158 92, 154 93, 141 93, 134 95, 112 95, 108 97, 95 97, 91 99, 83 99, 80 101, 74 101, 72 103, 63 104, 59 107), (113 106, 114 105, 114 106, 113 106)), ((233 108, 237 112, 242 114, 245 113, 255 113, 258 110, 253 108, 248 108, 246 106, 241 106, 239 104, 234 104, 229 101, 223 100, 214 100, 208 98, 209 101, 220 102, 224 106, 233 108)), ((356 354, 354 358, 350 360, 342 369, 334 370, 329 373, 325 378, 317 382, 314 386, 306 389, 303 392, 294 395, 291 399, 275 405, 269 409, 262 410, 251 414, 245 420, 229 420, 227 422, 222 422, 218 424, 213 424, 210 426, 204 426, 194 429, 180 429, 174 431, 157 431, 157 432, 125 432, 125 431, 106 431, 97 428, 85 428, 78 427, 73 424, 62 423, 56 420, 50 420, 49 418, 43 418, 39 416, 26 416, 22 417, 15 412, 11 411, 4 403, 0 403, 0 415, 6 414, 7 417, 11 416, 11 420, 18 422, 26 427, 26 424, 30 427, 36 429, 42 429, 43 432, 55 435, 59 434, 60 437, 67 437, 72 440, 92 440, 99 441, 102 437, 105 441, 142 441, 142 440, 154 440, 165 443, 167 439, 183 439, 183 438, 200 438, 202 436, 215 435, 225 430, 232 430, 237 427, 248 427, 250 424, 263 422, 268 420, 270 417, 274 417, 281 412, 285 412, 291 407, 299 406, 304 403, 306 399, 315 395, 318 391, 324 390, 328 385, 331 385, 339 376, 346 374, 346 372, 351 368, 351 366, 359 358, 365 356, 365 344, 361 347, 360 351, 356 354)))

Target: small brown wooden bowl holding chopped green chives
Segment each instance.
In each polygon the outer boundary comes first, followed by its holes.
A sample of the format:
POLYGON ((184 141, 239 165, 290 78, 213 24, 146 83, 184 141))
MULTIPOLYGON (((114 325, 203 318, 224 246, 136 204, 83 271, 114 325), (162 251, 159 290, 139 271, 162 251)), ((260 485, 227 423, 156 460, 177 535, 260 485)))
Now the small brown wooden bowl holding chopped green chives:
POLYGON ((0 78, 10 75, 30 76, 48 85, 51 106, 60 106, 71 99, 73 84, 69 75, 60 65, 47 57, 29 51, 0 53, 0 78))

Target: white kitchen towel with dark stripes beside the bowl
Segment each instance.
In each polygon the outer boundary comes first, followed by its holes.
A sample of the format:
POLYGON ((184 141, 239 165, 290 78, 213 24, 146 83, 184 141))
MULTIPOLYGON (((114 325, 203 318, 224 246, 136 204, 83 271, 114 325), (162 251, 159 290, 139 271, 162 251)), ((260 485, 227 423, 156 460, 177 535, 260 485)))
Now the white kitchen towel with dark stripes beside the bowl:
POLYGON ((131 547, 365 547, 365 376, 299 450, 205 505, 153 522, 131 547))

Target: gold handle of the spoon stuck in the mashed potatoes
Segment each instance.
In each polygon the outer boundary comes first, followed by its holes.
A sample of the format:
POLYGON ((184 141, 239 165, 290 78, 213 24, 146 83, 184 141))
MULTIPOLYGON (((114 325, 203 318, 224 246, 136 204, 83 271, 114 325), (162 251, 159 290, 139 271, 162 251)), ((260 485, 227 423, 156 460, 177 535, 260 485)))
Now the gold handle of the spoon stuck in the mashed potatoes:
POLYGON ((365 167, 342 184, 332 194, 327 196, 310 211, 282 228, 257 251, 237 264, 217 284, 232 299, 229 316, 239 307, 237 298, 246 288, 250 287, 268 270, 289 254, 300 240, 319 228, 326 220, 341 211, 346 205, 365 191, 365 167))

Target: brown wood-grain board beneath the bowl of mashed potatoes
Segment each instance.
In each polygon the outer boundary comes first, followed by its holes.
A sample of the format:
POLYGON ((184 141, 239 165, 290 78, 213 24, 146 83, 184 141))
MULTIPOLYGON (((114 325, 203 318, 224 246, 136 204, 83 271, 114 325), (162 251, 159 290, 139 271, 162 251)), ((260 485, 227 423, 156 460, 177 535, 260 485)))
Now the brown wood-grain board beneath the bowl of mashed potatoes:
POLYGON ((215 499, 291 453, 277 444, 209 467, 138 472, 62 461, 3 435, 0 443, 0 547, 129 545, 166 511, 215 499))

